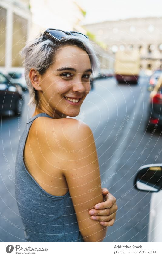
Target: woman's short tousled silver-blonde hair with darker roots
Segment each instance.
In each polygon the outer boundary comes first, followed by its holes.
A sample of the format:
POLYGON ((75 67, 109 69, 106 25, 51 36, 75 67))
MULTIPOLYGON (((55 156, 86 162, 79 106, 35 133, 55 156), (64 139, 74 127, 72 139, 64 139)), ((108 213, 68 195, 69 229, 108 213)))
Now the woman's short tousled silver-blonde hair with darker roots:
POLYGON ((24 57, 24 68, 25 68, 25 80, 29 90, 30 100, 28 105, 38 106, 38 95, 37 90, 32 86, 29 78, 29 71, 34 68, 43 75, 47 69, 53 64, 55 55, 58 53, 59 49, 65 45, 74 45, 82 48, 87 52, 91 61, 92 67, 92 78, 95 73, 98 72, 100 67, 100 60, 97 56, 93 45, 86 38, 81 38, 79 36, 67 36, 63 38, 63 41, 52 40, 49 36, 46 36, 45 40, 42 37, 42 33, 32 41, 28 42, 26 46, 21 50, 20 54, 24 57), (43 39, 43 40, 42 40, 43 39), (66 43, 65 43, 66 42, 66 43))

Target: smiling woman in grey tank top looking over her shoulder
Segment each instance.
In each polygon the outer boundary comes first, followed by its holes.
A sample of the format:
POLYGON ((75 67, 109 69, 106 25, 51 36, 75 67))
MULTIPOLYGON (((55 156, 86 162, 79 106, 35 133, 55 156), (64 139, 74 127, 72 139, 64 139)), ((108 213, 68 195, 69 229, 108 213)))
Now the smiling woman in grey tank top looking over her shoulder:
POLYGON ((66 118, 79 114, 90 91, 96 54, 85 35, 48 29, 22 55, 29 105, 36 106, 20 138, 15 167, 25 239, 101 242, 114 223, 116 199, 100 187, 89 126, 66 118))

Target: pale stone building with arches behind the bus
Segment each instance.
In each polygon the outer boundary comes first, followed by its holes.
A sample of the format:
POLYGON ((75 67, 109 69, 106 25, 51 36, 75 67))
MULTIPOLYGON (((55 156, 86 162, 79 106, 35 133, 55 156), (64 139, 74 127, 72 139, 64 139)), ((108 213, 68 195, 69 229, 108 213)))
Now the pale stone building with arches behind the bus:
POLYGON ((162 68, 162 18, 129 18, 84 25, 102 41, 105 51, 114 55, 120 50, 140 52, 140 66, 145 69, 162 68))

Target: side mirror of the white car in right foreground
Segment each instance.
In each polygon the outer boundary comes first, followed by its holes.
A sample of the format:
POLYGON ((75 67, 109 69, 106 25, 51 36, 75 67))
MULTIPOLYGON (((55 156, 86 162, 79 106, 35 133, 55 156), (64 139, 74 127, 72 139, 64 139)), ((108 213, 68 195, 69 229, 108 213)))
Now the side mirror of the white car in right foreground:
POLYGON ((162 164, 141 166, 137 171, 134 187, 147 192, 160 191, 162 189, 162 164))

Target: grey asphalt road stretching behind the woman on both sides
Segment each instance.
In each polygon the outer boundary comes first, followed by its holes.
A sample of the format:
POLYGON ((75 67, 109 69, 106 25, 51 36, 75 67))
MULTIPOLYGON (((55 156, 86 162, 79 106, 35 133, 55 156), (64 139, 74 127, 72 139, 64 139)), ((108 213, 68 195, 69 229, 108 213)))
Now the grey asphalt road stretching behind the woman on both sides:
MULTIPOLYGON (((117 199, 116 222, 108 228, 103 242, 147 242, 151 194, 133 188, 138 168, 154 163, 155 155, 161 148, 161 131, 158 127, 147 144, 152 133, 145 133, 144 130, 149 97, 147 87, 148 77, 144 74, 141 74, 137 85, 117 84, 114 78, 96 80, 76 117, 92 129, 102 187, 107 187, 117 199), (146 144, 147 149, 141 154, 146 144)), ((19 137, 34 111, 27 106, 28 100, 27 92, 19 126, 18 117, 6 115, 2 118, 1 242, 25 242, 15 200, 14 169, 19 137)), ((158 162, 162 162, 162 155, 158 162)))

